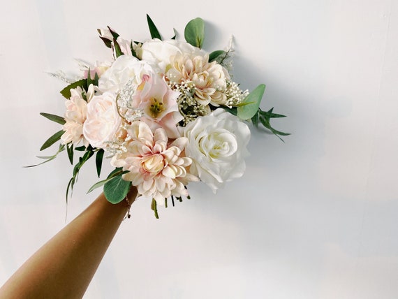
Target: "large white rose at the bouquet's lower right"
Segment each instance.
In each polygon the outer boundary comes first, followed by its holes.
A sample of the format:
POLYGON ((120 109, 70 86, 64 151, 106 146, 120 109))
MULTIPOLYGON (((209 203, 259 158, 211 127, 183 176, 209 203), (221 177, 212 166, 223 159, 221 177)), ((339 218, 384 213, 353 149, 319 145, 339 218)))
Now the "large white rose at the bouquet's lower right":
POLYGON ((214 193, 224 182, 242 177, 250 139, 250 129, 244 122, 219 108, 198 117, 183 130, 188 138, 186 156, 193 160, 190 171, 214 193))

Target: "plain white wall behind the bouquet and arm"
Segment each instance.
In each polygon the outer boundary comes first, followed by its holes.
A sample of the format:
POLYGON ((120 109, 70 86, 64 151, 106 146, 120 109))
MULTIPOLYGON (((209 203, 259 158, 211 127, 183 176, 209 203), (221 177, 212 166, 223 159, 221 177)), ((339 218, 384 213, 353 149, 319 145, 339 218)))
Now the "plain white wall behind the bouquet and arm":
MULTIPOLYGON (((234 79, 267 85, 282 143, 253 129, 246 173, 157 220, 138 200, 84 298, 398 298, 398 3, 367 1, 7 1, 0 10, 0 284, 89 205, 94 163, 72 198, 66 153, 37 168, 59 125, 73 59, 110 58, 96 32, 164 37, 206 22, 205 50, 235 36, 234 79), (66 210, 68 210, 65 222, 66 210)), ((105 168, 106 171, 110 170, 105 168)))

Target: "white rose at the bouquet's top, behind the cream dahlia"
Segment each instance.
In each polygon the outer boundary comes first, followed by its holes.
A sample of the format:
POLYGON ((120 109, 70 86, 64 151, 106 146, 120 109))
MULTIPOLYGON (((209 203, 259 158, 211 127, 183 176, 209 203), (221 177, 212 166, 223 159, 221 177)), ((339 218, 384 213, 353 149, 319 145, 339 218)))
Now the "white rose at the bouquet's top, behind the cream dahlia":
POLYGON ((170 57, 175 54, 192 54, 192 56, 205 56, 206 52, 185 41, 167 40, 161 41, 157 38, 142 44, 138 56, 142 60, 152 61, 161 66, 162 71, 170 64, 170 57))

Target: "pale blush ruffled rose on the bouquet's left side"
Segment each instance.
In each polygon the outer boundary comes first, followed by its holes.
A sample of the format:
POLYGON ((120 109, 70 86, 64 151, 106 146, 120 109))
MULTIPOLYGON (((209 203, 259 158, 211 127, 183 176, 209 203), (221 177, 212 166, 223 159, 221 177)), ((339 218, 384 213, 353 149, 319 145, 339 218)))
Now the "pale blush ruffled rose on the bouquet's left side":
POLYGON ((83 124, 83 135, 91 146, 105 148, 108 141, 115 140, 120 129, 121 117, 117 112, 116 96, 105 92, 93 96, 87 104, 87 119, 83 124))

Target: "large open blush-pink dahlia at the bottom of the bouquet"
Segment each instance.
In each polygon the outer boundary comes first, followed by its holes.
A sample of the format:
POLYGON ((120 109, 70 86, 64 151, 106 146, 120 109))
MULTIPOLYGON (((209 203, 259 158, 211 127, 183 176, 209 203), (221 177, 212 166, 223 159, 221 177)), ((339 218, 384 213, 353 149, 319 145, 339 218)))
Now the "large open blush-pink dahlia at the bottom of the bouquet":
POLYGON ((184 156, 187 138, 168 144, 162 128, 154 133, 145 122, 135 121, 126 128, 126 152, 113 156, 111 164, 129 170, 124 180, 131 181, 142 196, 163 203, 169 196, 188 196, 185 185, 198 180, 187 168, 192 160, 184 156))

